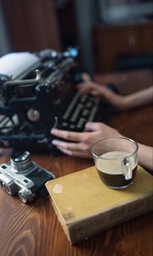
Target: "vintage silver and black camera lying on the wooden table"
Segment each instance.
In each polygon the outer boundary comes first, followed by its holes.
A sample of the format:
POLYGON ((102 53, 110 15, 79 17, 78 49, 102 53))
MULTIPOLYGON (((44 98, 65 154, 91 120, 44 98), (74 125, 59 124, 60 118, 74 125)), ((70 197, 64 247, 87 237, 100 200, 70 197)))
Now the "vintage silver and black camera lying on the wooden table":
POLYGON ((0 166, 0 186, 9 195, 18 194, 23 203, 47 195, 45 183, 53 178, 53 173, 31 161, 29 151, 16 152, 8 164, 0 166))

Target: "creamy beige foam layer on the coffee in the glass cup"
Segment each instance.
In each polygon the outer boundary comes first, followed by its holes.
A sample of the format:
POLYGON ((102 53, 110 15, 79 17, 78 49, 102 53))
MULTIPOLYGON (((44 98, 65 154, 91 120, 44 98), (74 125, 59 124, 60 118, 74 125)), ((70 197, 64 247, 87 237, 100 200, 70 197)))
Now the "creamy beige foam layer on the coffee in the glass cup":
MULTIPOLYGON (((123 151, 111 151, 100 155, 103 159, 98 159, 96 161, 96 167, 99 172, 105 172, 107 174, 122 174, 122 160, 125 159, 130 154, 123 151)), ((130 161, 131 171, 137 166, 134 161, 134 157, 130 156, 128 158, 130 161)))

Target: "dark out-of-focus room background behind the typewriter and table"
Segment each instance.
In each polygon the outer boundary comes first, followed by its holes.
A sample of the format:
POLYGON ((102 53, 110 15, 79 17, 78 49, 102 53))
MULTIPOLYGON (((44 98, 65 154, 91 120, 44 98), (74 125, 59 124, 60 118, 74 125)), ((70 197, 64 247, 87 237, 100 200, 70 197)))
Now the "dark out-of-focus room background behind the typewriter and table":
POLYGON ((78 46, 82 67, 153 67, 153 0, 0 0, 0 56, 78 46))

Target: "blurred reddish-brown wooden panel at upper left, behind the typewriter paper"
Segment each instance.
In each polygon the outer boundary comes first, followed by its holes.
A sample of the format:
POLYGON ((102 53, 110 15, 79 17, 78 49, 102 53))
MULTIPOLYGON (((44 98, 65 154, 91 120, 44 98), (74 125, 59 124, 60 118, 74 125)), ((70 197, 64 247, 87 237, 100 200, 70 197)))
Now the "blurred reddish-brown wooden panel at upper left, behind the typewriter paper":
POLYGON ((54 0, 3 0, 13 51, 61 49, 54 0))

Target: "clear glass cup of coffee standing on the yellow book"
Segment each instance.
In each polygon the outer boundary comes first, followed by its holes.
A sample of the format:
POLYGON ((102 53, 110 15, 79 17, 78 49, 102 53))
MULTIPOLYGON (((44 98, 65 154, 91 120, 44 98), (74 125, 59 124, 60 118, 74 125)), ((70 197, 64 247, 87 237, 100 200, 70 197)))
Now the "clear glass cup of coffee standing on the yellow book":
POLYGON ((125 189, 134 182, 138 148, 138 143, 126 137, 107 137, 94 143, 94 163, 105 185, 111 189, 125 189))

